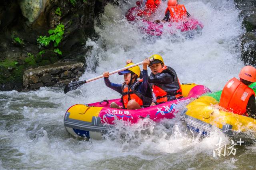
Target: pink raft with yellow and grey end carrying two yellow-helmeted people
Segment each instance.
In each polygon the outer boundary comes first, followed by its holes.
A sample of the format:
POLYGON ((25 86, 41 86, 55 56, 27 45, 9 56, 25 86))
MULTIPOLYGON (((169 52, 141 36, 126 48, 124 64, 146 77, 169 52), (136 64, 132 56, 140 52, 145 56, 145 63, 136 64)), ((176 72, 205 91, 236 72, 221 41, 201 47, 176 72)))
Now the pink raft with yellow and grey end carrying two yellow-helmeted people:
POLYGON ((204 93, 210 92, 203 85, 182 84, 181 86, 184 98, 143 109, 128 110, 109 107, 111 102, 116 102, 122 106, 120 99, 103 100, 102 102, 87 105, 76 104, 66 111, 64 126, 73 136, 102 139, 102 134, 105 134, 108 127, 114 125, 116 120, 137 123, 140 119, 146 117, 153 121, 160 121, 164 118, 172 119, 179 111, 176 107, 178 104, 189 102, 190 98, 197 98, 204 93))

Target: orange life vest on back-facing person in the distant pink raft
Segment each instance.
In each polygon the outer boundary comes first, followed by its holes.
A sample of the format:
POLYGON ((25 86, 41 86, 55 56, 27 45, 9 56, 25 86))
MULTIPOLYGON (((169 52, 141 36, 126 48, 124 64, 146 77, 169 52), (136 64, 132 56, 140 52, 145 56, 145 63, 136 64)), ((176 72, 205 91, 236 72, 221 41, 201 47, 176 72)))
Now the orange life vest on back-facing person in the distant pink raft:
POLYGON ((183 18, 187 17, 187 10, 184 5, 172 5, 166 8, 165 14, 167 11, 170 12, 170 21, 179 22, 182 21, 183 18))

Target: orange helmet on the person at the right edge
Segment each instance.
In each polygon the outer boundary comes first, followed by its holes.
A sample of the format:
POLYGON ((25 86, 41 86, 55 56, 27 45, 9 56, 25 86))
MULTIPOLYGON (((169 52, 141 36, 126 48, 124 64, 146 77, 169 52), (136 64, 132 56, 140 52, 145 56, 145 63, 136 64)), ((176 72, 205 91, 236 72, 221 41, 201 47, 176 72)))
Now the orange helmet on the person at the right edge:
POLYGON ((239 73, 239 77, 249 82, 256 82, 256 68, 245 66, 239 73))

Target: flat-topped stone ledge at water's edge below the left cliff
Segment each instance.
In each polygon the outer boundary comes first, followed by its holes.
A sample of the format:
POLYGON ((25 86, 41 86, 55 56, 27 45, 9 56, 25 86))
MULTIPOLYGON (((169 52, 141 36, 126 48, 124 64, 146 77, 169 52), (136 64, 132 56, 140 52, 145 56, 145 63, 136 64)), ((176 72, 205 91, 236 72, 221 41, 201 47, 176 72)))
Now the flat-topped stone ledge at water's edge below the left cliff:
POLYGON ((63 86, 78 80, 84 70, 84 63, 59 62, 24 72, 23 86, 26 90, 36 90, 43 86, 63 86))

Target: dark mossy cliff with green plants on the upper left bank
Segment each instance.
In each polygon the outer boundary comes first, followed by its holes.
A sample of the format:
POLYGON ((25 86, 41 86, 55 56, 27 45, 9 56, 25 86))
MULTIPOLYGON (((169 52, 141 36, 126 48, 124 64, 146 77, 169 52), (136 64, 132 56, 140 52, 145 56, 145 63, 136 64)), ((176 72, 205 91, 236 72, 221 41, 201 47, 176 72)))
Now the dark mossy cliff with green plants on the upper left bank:
MULTIPOLYGON (((82 62, 85 68, 85 57, 91 48, 85 48, 84 44, 88 38, 96 39, 94 20, 107 2, 109 0, 0 0, 0 90, 22 90, 25 70, 57 61, 82 62), (52 41, 47 47, 39 45, 38 37, 50 37, 48 31, 59 24, 64 25, 64 33, 61 40, 58 39, 58 47, 52 41), (56 48, 62 54, 56 53, 56 48)), ((54 72, 59 74, 63 70, 52 70, 51 75, 54 72)), ((63 77, 74 77, 73 74, 73 71, 66 72, 63 77)), ((49 78, 48 74, 44 76, 49 78)), ((31 81, 38 80, 34 77, 31 81)), ((38 83, 53 84, 41 79, 38 83)))

